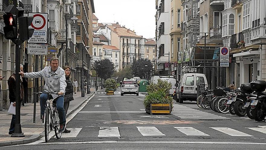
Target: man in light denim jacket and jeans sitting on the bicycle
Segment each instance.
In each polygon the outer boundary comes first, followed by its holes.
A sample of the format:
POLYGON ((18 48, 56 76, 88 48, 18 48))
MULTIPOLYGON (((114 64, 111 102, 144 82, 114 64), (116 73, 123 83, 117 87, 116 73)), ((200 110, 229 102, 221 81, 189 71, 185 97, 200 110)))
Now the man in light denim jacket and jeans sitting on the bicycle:
MULTIPOLYGON (((66 128, 66 115, 64 110, 64 94, 66 89, 66 75, 65 71, 59 67, 59 59, 52 57, 50 59, 50 66, 44 67, 39 72, 19 73, 22 77, 26 78, 40 78, 43 77, 45 81, 44 92, 58 92, 57 94, 51 94, 54 100, 56 100, 57 111, 60 119, 59 132, 63 132, 66 128)), ((40 106, 42 122, 44 122, 44 111, 48 94, 42 93, 40 96, 40 106)))

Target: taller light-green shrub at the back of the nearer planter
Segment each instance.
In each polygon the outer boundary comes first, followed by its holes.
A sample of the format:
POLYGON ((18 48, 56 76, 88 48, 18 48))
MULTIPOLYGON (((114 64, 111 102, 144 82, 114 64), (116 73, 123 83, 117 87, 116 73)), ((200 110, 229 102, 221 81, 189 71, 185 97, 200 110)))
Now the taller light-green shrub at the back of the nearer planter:
POLYGON ((146 90, 148 93, 155 91, 163 91, 164 93, 168 94, 171 88, 172 84, 170 82, 161 79, 158 79, 157 83, 151 83, 150 85, 146 86, 146 90))

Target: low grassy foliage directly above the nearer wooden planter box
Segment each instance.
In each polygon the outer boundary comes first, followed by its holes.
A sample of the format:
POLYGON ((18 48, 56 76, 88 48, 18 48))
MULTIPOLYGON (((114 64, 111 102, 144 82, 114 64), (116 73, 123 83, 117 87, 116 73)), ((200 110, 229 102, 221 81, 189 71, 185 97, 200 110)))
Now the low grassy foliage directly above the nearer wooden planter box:
POLYGON ((150 104, 171 104, 171 107, 173 108, 173 98, 167 96, 164 91, 158 90, 155 92, 151 92, 145 96, 143 100, 143 105, 146 108, 150 104))

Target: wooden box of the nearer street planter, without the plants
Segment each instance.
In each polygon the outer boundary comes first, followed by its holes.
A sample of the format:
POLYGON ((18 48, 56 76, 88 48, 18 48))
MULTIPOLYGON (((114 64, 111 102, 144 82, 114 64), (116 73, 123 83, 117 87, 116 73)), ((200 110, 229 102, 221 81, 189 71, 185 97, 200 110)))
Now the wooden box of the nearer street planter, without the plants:
POLYGON ((170 104, 150 104, 145 108, 146 112, 149 114, 171 114, 170 104))

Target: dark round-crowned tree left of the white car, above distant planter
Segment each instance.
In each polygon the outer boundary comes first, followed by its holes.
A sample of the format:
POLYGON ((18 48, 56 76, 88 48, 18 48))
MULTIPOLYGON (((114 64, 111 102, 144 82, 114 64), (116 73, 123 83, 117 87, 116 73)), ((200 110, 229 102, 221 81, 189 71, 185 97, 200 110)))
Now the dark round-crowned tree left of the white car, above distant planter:
POLYGON ((109 59, 102 59, 93 63, 93 70, 100 78, 106 80, 115 72, 115 65, 109 59))

